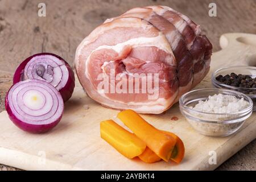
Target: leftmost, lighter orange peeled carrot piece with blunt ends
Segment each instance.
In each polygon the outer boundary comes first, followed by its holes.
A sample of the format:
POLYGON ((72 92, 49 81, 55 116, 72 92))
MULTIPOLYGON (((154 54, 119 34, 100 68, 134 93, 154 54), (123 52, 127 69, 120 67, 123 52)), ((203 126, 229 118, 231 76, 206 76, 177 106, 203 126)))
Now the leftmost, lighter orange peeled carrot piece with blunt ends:
POLYGON ((133 133, 123 129, 113 120, 106 120, 100 123, 101 138, 106 140, 118 152, 133 159, 139 156, 146 148, 146 144, 133 133))

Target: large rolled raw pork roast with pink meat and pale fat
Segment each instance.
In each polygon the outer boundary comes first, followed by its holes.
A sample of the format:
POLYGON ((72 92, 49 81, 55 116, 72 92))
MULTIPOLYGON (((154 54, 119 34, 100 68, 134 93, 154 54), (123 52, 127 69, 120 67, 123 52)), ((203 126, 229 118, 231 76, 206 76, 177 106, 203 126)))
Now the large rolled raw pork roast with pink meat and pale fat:
POLYGON ((148 6, 93 30, 77 47, 75 68, 100 104, 159 114, 203 80, 211 55, 199 25, 170 7, 148 6))

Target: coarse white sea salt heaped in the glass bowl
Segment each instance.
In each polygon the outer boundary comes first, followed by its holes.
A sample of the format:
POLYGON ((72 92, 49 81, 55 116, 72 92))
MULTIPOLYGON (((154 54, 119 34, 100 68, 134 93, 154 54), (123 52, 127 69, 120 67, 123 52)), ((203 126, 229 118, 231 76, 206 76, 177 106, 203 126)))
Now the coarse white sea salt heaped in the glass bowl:
POLYGON ((229 114, 246 109, 248 106, 249 102, 243 100, 243 97, 239 99, 232 95, 214 94, 209 96, 208 100, 199 101, 195 107, 190 108, 204 113, 229 114))

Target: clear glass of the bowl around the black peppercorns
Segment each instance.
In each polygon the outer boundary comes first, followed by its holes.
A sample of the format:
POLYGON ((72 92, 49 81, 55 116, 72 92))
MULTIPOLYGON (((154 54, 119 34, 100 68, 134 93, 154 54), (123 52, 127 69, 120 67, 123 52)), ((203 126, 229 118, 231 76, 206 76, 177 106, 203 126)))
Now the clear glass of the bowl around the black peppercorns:
POLYGON ((230 75, 230 73, 242 74, 242 75, 249 75, 252 78, 256 77, 256 67, 248 67, 248 66, 233 66, 233 67, 225 67, 221 69, 217 69, 215 72, 212 73, 212 84, 216 88, 222 89, 230 89, 236 90, 237 92, 242 92, 249 96, 251 100, 253 100, 253 110, 256 110, 256 88, 240 88, 236 86, 230 86, 223 84, 216 80, 218 75, 230 75))

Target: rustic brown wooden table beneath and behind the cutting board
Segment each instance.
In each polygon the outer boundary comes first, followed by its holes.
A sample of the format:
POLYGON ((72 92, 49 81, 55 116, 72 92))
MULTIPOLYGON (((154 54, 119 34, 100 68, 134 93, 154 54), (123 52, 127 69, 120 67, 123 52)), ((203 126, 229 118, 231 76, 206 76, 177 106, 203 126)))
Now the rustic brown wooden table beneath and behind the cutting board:
MULTIPOLYGON (((201 24, 218 51, 218 40, 226 32, 256 34, 255 0, 0 0, 0 111, 20 61, 38 52, 54 52, 70 64, 81 40, 106 18, 136 6, 167 5, 201 24), (46 17, 38 16, 38 4, 46 3, 46 17), (209 3, 217 5, 217 16, 208 15, 209 3)), ((217 170, 256 170, 256 140, 232 156, 217 170)), ((0 164, 0 170, 16 170, 0 164)))

